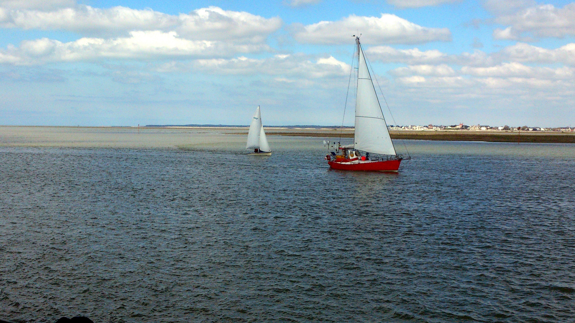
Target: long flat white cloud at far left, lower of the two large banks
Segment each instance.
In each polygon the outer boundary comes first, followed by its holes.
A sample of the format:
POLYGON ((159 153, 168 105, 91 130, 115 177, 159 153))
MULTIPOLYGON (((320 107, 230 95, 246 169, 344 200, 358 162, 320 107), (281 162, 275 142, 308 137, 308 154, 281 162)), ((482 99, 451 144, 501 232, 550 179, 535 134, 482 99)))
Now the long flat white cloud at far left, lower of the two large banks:
POLYGON ((97 59, 151 59, 167 57, 225 57, 237 52, 256 52, 266 45, 231 44, 221 41, 188 40, 176 32, 138 31, 129 37, 100 39, 84 37, 62 43, 51 39, 22 41, 0 52, 0 63, 20 65, 97 59))

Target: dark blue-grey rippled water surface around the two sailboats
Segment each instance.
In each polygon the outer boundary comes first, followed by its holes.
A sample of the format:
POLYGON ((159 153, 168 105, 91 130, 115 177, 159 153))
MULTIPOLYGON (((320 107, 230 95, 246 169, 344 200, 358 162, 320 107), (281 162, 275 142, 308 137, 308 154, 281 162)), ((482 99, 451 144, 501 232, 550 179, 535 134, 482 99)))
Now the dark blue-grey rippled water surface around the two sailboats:
MULTIPOLYGON (((572 322, 575 146, 0 148, 0 319, 572 322)), ((274 145, 274 140, 271 140, 274 145)))

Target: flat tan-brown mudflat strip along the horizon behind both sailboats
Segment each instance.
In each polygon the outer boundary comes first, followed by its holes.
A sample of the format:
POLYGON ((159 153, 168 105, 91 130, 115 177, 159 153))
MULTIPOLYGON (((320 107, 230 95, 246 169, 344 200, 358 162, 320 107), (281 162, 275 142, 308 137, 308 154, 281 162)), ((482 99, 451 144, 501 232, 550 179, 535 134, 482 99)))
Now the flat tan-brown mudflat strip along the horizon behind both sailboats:
MULTIPOLYGON (((245 143, 247 127, 64 127, 0 126, 0 147, 181 149, 245 143)), ((268 136, 352 138, 354 129, 266 128, 268 136)), ((574 132, 542 131, 390 131, 392 139, 490 141, 500 143, 575 143, 574 132)), ((287 138, 286 138, 287 139, 287 138)))

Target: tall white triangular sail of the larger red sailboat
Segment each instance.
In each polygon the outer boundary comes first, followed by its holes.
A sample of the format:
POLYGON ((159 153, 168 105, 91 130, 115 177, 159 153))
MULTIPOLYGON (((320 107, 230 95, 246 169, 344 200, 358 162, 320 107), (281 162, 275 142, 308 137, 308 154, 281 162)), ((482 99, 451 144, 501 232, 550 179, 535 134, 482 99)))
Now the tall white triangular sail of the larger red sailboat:
POLYGON ((358 89, 355 101, 355 149, 370 153, 396 155, 392 140, 389 137, 388 125, 369 71, 363 50, 358 43, 358 89))

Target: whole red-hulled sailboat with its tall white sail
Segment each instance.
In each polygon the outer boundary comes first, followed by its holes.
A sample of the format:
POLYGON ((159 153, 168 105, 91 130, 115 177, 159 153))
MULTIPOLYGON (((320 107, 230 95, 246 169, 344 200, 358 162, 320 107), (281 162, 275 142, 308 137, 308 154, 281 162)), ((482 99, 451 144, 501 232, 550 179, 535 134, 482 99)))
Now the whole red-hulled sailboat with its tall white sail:
POLYGON ((355 43, 358 67, 354 144, 332 145, 335 151, 328 153, 325 159, 329 167, 336 170, 397 172, 404 157, 393 147, 359 37, 355 38, 355 43))

